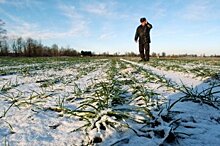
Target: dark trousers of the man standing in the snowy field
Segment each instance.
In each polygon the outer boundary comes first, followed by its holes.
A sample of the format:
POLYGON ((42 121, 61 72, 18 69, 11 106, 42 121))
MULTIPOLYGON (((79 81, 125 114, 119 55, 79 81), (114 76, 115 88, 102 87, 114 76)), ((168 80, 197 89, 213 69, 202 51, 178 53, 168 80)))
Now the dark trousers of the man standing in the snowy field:
POLYGON ((139 52, 142 60, 149 61, 150 59, 150 44, 139 43, 139 52))

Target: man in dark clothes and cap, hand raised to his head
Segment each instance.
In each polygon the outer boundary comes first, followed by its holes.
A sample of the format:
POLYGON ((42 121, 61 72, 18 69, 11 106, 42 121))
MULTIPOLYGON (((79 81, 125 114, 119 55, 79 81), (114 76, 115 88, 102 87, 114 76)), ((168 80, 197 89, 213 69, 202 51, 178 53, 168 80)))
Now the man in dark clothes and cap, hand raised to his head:
POLYGON ((146 18, 140 19, 141 25, 137 27, 135 33, 135 42, 139 40, 139 52, 141 61, 149 61, 150 59, 150 30, 152 25, 146 20, 146 18))

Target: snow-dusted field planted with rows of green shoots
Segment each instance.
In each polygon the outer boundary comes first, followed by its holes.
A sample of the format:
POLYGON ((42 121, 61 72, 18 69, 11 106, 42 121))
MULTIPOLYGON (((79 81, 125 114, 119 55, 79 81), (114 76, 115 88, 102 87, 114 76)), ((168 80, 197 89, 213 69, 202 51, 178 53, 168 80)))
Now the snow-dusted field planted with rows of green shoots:
POLYGON ((220 145, 218 63, 0 63, 0 145, 220 145))

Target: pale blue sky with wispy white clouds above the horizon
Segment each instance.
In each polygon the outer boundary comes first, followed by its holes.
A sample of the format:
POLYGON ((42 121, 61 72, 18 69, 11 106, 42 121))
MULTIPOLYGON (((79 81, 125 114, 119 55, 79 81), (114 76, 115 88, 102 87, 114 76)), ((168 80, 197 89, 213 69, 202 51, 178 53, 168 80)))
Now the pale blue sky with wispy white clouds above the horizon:
POLYGON ((219 0, 0 0, 10 38, 78 51, 136 52, 140 17, 153 25, 151 52, 220 54, 219 0))

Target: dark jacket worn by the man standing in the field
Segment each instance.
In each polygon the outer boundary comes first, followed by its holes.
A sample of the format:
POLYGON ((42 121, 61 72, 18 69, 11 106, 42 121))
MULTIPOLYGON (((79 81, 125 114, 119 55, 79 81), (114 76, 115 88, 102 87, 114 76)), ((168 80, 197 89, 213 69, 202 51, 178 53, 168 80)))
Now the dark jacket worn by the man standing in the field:
POLYGON ((145 43, 151 43, 150 40, 150 30, 152 28, 152 25, 150 23, 147 23, 146 25, 138 26, 136 33, 135 33, 135 41, 139 38, 139 44, 145 44, 145 43))

